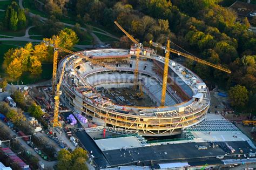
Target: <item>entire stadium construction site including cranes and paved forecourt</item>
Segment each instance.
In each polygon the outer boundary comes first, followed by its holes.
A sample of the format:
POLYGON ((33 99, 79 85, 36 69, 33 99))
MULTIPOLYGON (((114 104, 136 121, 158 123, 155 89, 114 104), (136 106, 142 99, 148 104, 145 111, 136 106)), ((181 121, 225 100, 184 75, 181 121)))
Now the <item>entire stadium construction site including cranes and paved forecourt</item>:
POLYGON ((58 37, 44 42, 55 47, 52 82, 30 87, 28 94, 44 110, 47 135, 58 147, 83 147, 96 169, 211 169, 256 162, 251 138, 219 114, 204 81, 170 53, 230 70, 174 50, 170 40, 144 47, 115 24, 134 43, 130 49, 73 52, 59 47, 58 37), (59 51, 69 55, 58 62, 59 51))

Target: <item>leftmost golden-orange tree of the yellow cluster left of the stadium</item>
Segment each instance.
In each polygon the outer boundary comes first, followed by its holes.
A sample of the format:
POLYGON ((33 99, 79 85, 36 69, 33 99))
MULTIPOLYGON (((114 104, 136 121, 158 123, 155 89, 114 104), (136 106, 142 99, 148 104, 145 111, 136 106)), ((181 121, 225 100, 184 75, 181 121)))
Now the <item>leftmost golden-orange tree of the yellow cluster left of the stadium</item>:
POLYGON ((12 62, 6 68, 6 73, 9 75, 11 80, 17 80, 22 75, 22 63, 21 60, 14 58, 12 62))

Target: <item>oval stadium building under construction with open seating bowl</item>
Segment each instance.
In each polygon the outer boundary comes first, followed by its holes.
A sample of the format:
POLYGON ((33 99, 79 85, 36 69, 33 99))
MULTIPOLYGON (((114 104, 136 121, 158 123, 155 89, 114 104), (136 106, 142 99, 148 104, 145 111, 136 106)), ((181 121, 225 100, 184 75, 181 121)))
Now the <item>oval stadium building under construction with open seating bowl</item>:
POLYGON ((134 55, 133 48, 96 49, 65 57, 58 67, 59 77, 66 64, 62 97, 76 112, 92 118, 97 124, 136 131, 144 136, 180 134, 181 128, 205 119, 210 93, 196 74, 169 60, 162 106, 165 58, 151 49, 141 51, 138 80, 134 84, 134 55))

